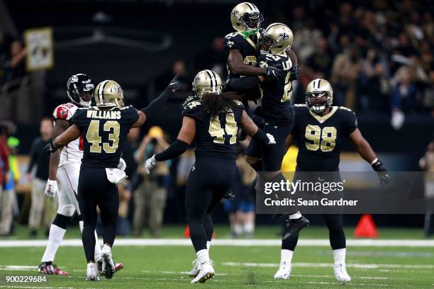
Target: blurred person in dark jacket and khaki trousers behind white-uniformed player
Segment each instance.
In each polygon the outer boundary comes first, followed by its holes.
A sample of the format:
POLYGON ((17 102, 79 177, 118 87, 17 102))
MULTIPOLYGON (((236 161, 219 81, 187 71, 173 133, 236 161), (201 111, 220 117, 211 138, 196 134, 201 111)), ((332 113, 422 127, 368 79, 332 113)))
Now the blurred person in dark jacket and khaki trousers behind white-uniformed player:
POLYGON ((30 227, 30 237, 38 236, 38 228, 43 225, 48 229, 52 219, 55 217, 57 209, 57 198, 54 202, 45 198, 45 184, 48 180, 48 163, 50 154, 44 154, 43 148, 52 139, 52 120, 51 118, 43 118, 40 121, 40 137, 37 137, 30 149, 30 163, 27 168, 27 179, 30 181, 31 171, 36 166, 35 175, 32 181, 30 215, 28 216, 28 225, 30 227))

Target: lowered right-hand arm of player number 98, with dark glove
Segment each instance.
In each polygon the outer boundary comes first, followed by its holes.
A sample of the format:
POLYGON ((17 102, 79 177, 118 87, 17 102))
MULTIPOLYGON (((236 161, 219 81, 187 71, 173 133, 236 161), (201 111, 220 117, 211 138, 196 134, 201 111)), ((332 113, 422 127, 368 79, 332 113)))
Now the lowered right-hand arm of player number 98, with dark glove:
POLYGON ((369 145, 369 142, 367 142, 367 140, 365 140, 365 137, 362 136, 362 132, 360 132, 360 130, 356 128, 355 131, 348 136, 348 138, 350 138, 352 144, 355 145, 357 152, 359 152, 360 154, 360 157, 365 159, 365 161, 369 162, 374 171, 377 171, 380 184, 386 185, 387 183, 389 183, 389 175, 387 174, 386 167, 384 166, 382 161, 378 159, 371 145, 369 145))

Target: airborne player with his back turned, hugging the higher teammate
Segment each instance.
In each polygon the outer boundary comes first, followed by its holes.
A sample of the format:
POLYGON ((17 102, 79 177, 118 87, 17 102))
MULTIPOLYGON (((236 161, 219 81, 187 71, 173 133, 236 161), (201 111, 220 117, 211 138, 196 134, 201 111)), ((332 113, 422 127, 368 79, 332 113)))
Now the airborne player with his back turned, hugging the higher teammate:
MULTIPOLYGON (((286 137, 294 127, 294 107, 291 106, 292 81, 298 77, 292 68, 292 62, 286 52, 294 42, 294 35, 288 26, 282 23, 272 23, 264 31, 260 38, 262 49, 268 51, 258 59, 260 67, 274 67, 279 71, 277 79, 265 77, 243 77, 229 79, 228 85, 235 89, 249 89, 260 84, 262 89, 262 107, 255 111, 264 119, 261 124, 265 132, 274 135, 276 145, 263 146, 260 142, 252 140, 246 150, 247 162, 256 171, 266 171, 267 178, 279 182, 284 176, 279 173, 282 159, 286 153, 286 137)), ((292 208, 288 212, 289 218, 284 234, 294 236, 309 222, 306 217, 292 208)))

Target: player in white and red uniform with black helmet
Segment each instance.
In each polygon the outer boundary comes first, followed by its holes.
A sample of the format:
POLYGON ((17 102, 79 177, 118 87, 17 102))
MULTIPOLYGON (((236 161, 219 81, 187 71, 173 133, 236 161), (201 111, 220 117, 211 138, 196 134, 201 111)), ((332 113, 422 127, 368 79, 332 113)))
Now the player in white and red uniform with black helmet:
MULTIPOLYGON (((52 118, 55 122, 54 137, 61 135, 69 128, 69 120, 78 108, 91 106, 91 96, 94 91, 94 84, 86 74, 74 74, 67 81, 67 94, 71 101, 61 104, 55 108, 52 118)), ((50 234, 48 236, 48 245, 45 249, 38 271, 45 274, 67 275, 54 263, 55 254, 65 236, 67 224, 77 211, 79 215, 80 231, 83 229, 83 221, 80 218, 79 204, 77 200, 77 186, 79 179, 80 165, 82 164, 83 140, 79 137, 77 140, 69 142, 63 149, 58 150, 50 155, 50 171, 45 186, 45 196, 51 199, 57 194, 59 208, 57 215, 52 221, 50 234), (58 182, 58 183, 57 183, 58 182), (57 187, 57 184, 59 187, 57 187)), ((119 169, 125 169, 126 165, 121 159, 119 169)), ((95 244, 95 261, 101 262, 101 247, 96 236, 95 244)), ((101 264, 99 264, 101 265, 101 264)), ((122 263, 116 264, 116 271, 123 268, 122 263)))

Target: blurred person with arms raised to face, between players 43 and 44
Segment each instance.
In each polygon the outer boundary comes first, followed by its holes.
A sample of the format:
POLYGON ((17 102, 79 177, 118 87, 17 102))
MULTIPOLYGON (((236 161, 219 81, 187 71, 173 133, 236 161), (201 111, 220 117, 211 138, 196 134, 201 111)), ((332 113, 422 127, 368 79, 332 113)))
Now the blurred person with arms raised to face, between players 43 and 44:
MULTIPOLYGON (((143 164, 146 159, 164 151, 167 147, 169 144, 165 140, 163 130, 154 126, 143 137, 143 141, 135 153, 135 161, 138 164, 143 164)), ((133 234, 135 236, 142 234, 143 225, 148 220, 151 236, 158 237, 166 206, 169 165, 170 162, 160 162, 151 174, 145 174, 145 167, 139 166, 138 174, 143 181, 137 190, 131 189, 134 191, 133 234)))

